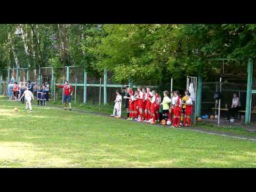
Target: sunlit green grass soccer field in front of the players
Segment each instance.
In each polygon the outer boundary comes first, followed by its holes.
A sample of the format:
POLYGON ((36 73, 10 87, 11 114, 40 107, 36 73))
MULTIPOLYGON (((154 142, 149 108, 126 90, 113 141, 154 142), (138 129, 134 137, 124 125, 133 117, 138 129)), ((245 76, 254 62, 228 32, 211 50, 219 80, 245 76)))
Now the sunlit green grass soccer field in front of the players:
POLYGON ((0 101, 0 167, 256 167, 253 141, 58 108, 24 109, 0 101))

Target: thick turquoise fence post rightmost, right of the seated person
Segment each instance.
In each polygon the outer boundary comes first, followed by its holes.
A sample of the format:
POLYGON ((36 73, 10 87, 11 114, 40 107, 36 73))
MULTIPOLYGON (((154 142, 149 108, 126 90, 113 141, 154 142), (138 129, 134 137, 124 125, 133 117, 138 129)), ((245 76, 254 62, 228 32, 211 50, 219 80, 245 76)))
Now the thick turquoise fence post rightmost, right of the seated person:
POLYGON ((251 103, 252 103, 252 66, 253 60, 248 60, 247 65, 247 93, 246 93, 246 109, 245 109, 245 123, 251 122, 251 103))

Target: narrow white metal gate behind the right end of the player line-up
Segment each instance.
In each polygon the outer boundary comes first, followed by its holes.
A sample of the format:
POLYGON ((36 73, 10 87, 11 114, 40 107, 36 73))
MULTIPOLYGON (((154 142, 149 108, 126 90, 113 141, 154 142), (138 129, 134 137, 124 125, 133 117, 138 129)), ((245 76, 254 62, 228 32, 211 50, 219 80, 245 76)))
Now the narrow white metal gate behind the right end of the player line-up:
POLYGON ((196 124, 196 87, 197 87, 197 78, 187 76, 187 90, 190 93, 190 97, 193 101, 193 110, 191 114, 191 122, 196 124))

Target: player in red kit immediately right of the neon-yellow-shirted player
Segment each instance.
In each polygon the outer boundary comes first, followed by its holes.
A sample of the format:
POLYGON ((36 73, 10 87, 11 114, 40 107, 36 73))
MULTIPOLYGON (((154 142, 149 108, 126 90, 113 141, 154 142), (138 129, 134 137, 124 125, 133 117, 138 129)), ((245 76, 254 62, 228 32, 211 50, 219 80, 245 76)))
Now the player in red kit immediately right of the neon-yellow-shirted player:
POLYGON ((180 117, 181 117, 181 111, 182 111, 182 102, 181 97, 179 95, 179 91, 174 92, 174 116, 172 119, 172 126, 173 127, 180 127, 180 117))

